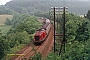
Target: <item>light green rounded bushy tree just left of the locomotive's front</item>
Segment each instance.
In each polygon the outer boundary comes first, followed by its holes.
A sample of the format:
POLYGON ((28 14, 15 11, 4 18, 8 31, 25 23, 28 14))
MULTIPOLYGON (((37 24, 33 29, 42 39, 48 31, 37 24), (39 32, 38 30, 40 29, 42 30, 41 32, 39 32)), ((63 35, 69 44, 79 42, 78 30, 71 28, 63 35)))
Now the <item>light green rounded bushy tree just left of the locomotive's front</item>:
POLYGON ((14 33, 10 33, 8 34, 7 39, 11 48, 19 44, 28 44, 31 41, 30 36, 26 31, 15 31, 14 33))

